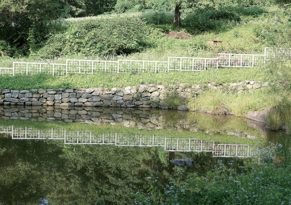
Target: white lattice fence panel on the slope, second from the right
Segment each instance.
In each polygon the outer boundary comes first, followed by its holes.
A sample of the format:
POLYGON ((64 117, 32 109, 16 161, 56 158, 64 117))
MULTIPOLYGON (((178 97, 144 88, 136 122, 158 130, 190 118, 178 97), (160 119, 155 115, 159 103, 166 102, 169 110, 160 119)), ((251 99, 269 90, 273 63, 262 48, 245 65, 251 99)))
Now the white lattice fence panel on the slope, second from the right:
POLYGON ((219 67, 246 67, 251 68, 254 66, 263 65, 265 62, 264 55, 249 55, 249 54, 218 54, 219 67))

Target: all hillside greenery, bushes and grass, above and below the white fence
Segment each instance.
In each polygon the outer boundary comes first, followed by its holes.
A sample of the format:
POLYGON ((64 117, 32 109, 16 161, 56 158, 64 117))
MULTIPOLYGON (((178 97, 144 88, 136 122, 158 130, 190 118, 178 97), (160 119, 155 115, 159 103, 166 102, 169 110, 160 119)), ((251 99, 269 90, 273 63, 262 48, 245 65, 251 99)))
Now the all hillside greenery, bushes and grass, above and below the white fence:
MULTIPOLYGON (((180 4, 181 27, 173 26, 173 5, 171 9, 170 4, 165 4, 168 5, 164 7, 165 11, 157 11, 157 2, 149 6, 117 1, 110 14, 65 18, 35 49, 22 52, 24 55, 19 55, 21 52, 17 49, 20 48, 1 40, 0 49, 4 56, 0 58, 0 67, 12 67, 13 61, 20 60, 65 63, 65 59, 215 58, 217 53, 263 54, 264 47, 290 47, 288 2, 216 0, 208 1, 210 3, 199 1, 195 5, 191 2, 180 4), (222 43, 208 44, 209 39, 222 43)), ((203 95, 189 101, 178 101, 186 103, 191 110, 215 113, 216 108, 222 106, 229 113, 245 116, 248 111, 289 104, 289 67, 288 62, 274 61, 250 69, 219 68, 200 73, 1 77, 0 88, 112 88, 151 83, 166 86, 185 83, 191 86, 245 80, 269 82, 269 87, 251 94, 215 94, 206 90, 203 95)))

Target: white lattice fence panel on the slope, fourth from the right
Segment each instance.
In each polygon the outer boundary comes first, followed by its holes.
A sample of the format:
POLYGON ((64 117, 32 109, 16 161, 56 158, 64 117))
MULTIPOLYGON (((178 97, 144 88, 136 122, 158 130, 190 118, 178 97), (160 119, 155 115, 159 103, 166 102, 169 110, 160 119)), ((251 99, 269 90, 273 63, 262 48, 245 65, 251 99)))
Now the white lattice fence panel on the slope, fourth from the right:
POLYGON ((164 73, 168 62, 150 60, 118 60, 119 73, 164 73))

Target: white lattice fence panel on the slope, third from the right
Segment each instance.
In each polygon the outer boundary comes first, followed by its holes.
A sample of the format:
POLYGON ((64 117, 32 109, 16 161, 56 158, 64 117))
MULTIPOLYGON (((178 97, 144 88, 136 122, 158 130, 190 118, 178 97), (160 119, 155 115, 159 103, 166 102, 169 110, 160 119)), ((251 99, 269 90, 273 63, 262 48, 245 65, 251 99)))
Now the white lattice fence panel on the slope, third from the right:
POLYGON ((217 59, 169 57, 168 71, 204 71, 217 68, 217 59))

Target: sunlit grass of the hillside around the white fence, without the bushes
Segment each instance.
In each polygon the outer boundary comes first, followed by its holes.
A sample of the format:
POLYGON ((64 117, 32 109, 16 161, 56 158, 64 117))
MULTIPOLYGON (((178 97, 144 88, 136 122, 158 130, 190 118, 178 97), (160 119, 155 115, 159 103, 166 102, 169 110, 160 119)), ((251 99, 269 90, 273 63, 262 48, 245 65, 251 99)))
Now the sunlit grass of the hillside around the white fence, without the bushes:
MULTIPOLYGON (((259 25, 271 22, 273 24, 274 14, 281 12, 277 7, 267 8, 269 14, 260 15, 253 18, 242 16, 241 23, 224 22, 219 29, 210 30, 194 35, 190 39, 170 39, 161 33, 157 36, 154 48, 148 48, 140 53, 134 53, 128 56, 118 56, 113 59, 146 59, 146 60, 167 60, 169 56, 184 57, 215 57, 219 52, 227 53, 254 53, 263 54, 265 41, 260 41, 255 36, 253 30, 259 25), (220 45, 206 44, 207 39, 222 40, 220 45)), ((133 14, 136 15, 136 14, 133 14)), ((145 14, 138 14, 144 17, 145 14)), ((168 14, 172 15, 172 14, 168 14)), ((104 17, 104 16, 103 16, 104 17)), ((100 17, 92 17, 100 18, 100 17)), ((85 19, 86 20, 86 19, 85 19)), ((92 20, 92 19, 91 19, 92 20)), ((94 19, 93 19, 94 20, 94 19)), ((67 25, 78 24, 84 19, 68 19, 67 25)), ((286 19, 282 21, 286 22, 286 19)), ((157 27, 153 25, 153 27, 157 27)), ((167 28, 171 28, 165 25, 167 28)), ((160 26, 159 28, 163 28, 160 26)), ((183 30, 183 29, 182 29, 183 30)), ((176 29, 177 31, 177 29, 176 29)), ((65 59, 98 59, 98 57, 84 56, 64 56, 59 59, 41 59, 41 62, 65 62, 65 59)), ((19 60, 19 59, 17 59, 19 60)), ((22 59, 23 60, 23 59, 22 59)), ((24 59, 32 61, 33 59, 24 59)), ((16 59, 0 59, 0 67, 11 67, 16 59)), ((221 68, 197 73, 159 73, 143 75, 126 74, 104 74, 94 75, 68 75, 61 77, 53 76, 15 76, 1 77, 0 88, 11 89, 30 89, 30 88, 98 88, 98 87, 126 87, 138 86, 139 84, 196 84, 196 83, 233 83, 244 80, 251 81, 272 81, 272 75, 265 72, 265 66, 260 68, 240 69, 240 68, 221 68)), ((253 94, 215 94, 207 92, 201 97, 193 99, 188 103, 192 110, 210 110, 215 113, 217 107, 224 107, 237 116, 245 116, 248 111, 263 110, 269 106, 275 106, 280 99, 268 89, 262 89, 253 94), (214 99, 214 100, 213 100, 214 99), (214 109, 215 108, 215 109, 214 109)))

